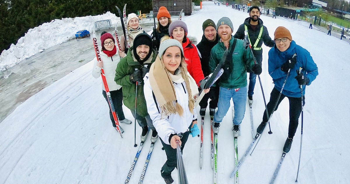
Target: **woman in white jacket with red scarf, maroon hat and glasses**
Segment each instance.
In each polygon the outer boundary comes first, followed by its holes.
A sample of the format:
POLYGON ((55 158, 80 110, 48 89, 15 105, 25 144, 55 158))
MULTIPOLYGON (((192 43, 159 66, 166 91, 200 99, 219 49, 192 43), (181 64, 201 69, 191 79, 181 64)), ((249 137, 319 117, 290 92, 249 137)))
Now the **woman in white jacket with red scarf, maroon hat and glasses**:
MULTIPOLYGON (((101 49, 102 52, 100 52, 101 61, 97 61, 96 57, 95 59, 93 59, 94 64, 92 69, 92 76, 95 77, 96 79, 100 77, 101 68, 103 68, 106 76, 107 86, 111 93, 113 106, 114 106, 114 109, 116 110, 118 120, 120 123, 131 124, 131 121, 126 119, 123 113, 123 108, 122 108, 123 91, 121 89, 121 86, 114 81, 117 64, 120 61, 120 56, 119 56, 120 54, 118 52, 117 47, 114 45, 115 41, 112 34, 102 32, 100 40, 101 40, 101 46, 102 46, 102 49, 101 49)), ((103 85, 102 85, 102 90, 103 90, 102 94, 105 97, 109 107, 108 98, 103 85)), ((110 118, 111 118, 113 127, 116 127, 111 109, 110 109, 110 118)))

